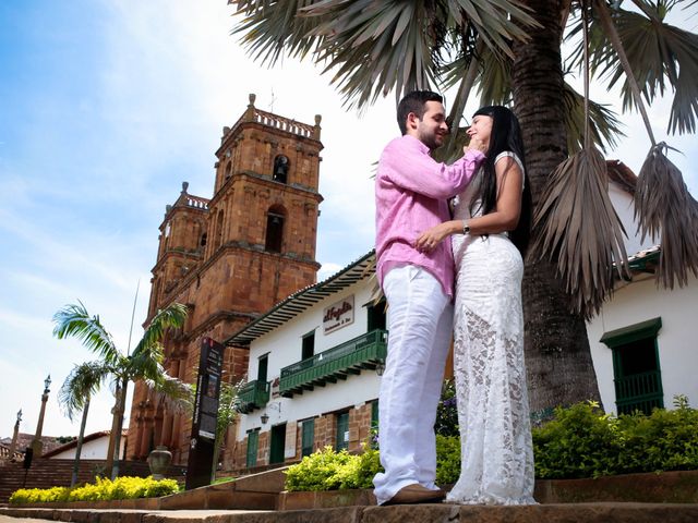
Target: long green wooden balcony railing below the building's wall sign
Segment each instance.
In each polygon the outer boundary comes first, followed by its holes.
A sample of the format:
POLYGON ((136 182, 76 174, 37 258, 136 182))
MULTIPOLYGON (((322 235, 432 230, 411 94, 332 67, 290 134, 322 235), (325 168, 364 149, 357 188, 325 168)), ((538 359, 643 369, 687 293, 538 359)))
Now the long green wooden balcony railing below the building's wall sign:
POLYGON ((314 387, 336 384, 362 369, 374 369, 385 362, 387 354, 387 331, 372 330, 353 340, 346 341, 325 352, 284 367, 279 381, 279 392, 286 398, 301 394, 314 387))

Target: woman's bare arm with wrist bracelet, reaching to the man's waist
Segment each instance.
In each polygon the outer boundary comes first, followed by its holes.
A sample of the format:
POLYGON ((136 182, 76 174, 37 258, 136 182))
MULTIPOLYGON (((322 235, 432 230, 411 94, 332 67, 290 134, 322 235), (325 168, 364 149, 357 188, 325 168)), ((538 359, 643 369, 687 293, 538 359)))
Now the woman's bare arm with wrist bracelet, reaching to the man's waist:
POLYGON ((469 233, 496 234, 516 228, 521 212, 524 173, 516 160, 505 156, 494 166, 497 177, 497 203, 493 211, 468 220, 450 220, 440 223, 419 235, 414 242, 418 251, 428 252, 449 234, 462 234, 467 224, 469 233), (465 222, 465 223, 464 223, 465 222))

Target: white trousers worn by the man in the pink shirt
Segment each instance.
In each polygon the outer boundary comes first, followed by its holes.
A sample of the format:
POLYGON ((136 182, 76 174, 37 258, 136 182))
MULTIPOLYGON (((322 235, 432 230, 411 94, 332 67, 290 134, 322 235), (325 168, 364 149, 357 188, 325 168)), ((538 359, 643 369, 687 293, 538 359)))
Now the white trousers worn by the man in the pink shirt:
POLYGON ((414 483, 435 489, 434 422, 453 332, 453 305, 428 270, 393 268, 388 351, 378 393, 378 445, 385 473, 373 478, 378 504, 414 483))

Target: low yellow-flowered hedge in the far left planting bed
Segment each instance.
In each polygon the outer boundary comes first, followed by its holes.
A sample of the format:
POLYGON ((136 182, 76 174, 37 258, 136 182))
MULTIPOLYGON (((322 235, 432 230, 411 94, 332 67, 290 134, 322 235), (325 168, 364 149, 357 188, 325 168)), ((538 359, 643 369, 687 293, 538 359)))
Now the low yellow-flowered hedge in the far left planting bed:
POLYGON ((81 487, 21 488, 10 496, 11 503, 52 501, 98 501, 110 499, 156 498, 179 491, 174 479, 148 477, 117 477, 113 482, 97 477, 94 484, 81 487))

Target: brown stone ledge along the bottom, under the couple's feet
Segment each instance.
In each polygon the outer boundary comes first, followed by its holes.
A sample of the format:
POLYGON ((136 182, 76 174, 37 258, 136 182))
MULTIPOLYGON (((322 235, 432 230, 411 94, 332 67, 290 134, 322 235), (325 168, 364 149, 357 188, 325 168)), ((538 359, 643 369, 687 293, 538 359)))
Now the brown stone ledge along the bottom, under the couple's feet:
MULTIPOLYGON (((417 504, 313 510, 113 510, 0 508, 4 516, 75 523, 696 523, 696 503, 565 503, 528 507, 417 504)), ((10 520, 11 523, 20 520, 10 520)))

